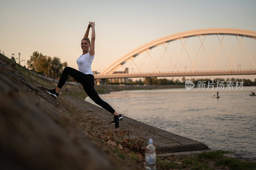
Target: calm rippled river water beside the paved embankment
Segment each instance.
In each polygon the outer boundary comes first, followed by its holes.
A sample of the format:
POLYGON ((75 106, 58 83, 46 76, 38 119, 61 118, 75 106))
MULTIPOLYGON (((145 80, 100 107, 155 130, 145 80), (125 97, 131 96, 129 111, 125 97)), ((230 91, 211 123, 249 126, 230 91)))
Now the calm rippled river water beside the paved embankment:
MULTIPOLYGON (((132 90, 100 97, 132 119, 203 142, 211 149, 256 156, 256 96, 249 96, 251 91, 256 87, 132 90), (217 91, 220 98, 212 98, 217 91)), ((88 97, 85 100, 92 102, 88 97)))

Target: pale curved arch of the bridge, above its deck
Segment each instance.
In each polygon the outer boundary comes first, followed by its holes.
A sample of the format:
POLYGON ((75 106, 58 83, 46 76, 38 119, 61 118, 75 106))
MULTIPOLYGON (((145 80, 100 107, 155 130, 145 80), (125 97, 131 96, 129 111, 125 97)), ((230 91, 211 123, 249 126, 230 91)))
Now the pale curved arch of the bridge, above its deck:
MULTIPOLYGON (((168 36, 156 39, 156 40, 146 43, 144 45, 141 45, 140 47, 128 52, 127 54, 125 54, 124 56, 122 56, 121 58, 119 58, 115 62, 113 62, 111 65, 109 65, 107 68, 105 68, 102 72, 100 72, 101 75, 104 74, 105 76, 100 76, 100 74, 98 74, 96 77, 97 78, 103 78, 103 77, 105 78, 106 75, 113 74, 120 66, 124 65, 127 61, 131 60, 132 58, 135 58, 139 54, 141 54, 149 49, 152 49, 156 46, 159 46, 159 45, 162 45, 162 44, 174 41, 174 40, 179 40, 179 39, 193 37, 193 36, 201 36, 201 35, 235 35, 235 36, 238 35, 241 37, 249 37, 249 38, 253 38, 256 40, 256 31, 243 30, 243 29, 232 29, 232 28, 197 29, 197 30, 172 34, 172 35, 168 35, 168 36)), ((255 66, 254 60, 252 58, 251 58, 251 61, 252 61, 252 64, 255 66)), ((229 73, 229 72, 227 72, 227 73, 229 73)), ((241 73, 241 74, 244 74, 244 73, 241 73)), ((251 74, 255 74, 255 70, 253 70, 253 73, 251 73, 251 74)), ((181 74, 181 75, 183 75, 183 74, 181 74)), ((212 75, 218 75, 218 73, 217 74, 214 73, 212 75)), ((111 77, 116 77, 116 76, 117 75, 111 76, 111 77)), ((128 76, 129 75, 127 74, 125 77, 128 77, 128 76)), ((130 75, 130 76, 132 76, 132 75, 130 75)), ((162 76, 164 76, 164 75, 162 75, 162 76)), ((135 76, 135 77, 140 77, 140 75, 135 76)))

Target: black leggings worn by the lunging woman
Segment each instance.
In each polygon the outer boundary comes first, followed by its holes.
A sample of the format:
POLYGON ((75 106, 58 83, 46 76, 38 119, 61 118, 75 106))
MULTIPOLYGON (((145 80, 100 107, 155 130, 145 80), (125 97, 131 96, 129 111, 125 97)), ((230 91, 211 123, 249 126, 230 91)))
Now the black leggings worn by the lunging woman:
POLYGON ((68 75, 73 77, 77 82, 83 85, 85 93, 98 105, 106 109, 110 113, 114 113, 115 110, 105 101, 103 101, 96 90, 94 89, 94 76, 92 74, 84 74, 74 68, 65 67, 61 76, 60 81, 57 85, 58 88, 62 88, 65 82, 68 80, 68 75))

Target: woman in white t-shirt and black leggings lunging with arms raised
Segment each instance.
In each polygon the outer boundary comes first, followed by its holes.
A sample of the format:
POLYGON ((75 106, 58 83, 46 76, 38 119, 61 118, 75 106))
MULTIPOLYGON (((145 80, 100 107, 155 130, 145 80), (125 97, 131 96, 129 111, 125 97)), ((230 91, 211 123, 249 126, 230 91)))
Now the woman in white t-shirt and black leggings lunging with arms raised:
MULTIPOLYGON (((68 80, 68 75, 73 77, 77 82, 83 85, 85 93, 98 105, 106 109, 108 112, 114 114, 114 121, 110 122, 115 124, 118 120, 122 120, 123 116, 118 114, 107 102, 103 101, 96 90, 94 89, 94 75, 92 73, 92 61, 94 59, 94 43, 95 43, 95 23, 89 21, 89 25, 85 32, 84 38, 81 41, 81 48, 83 54, 77 58, 76 63, 78 65, 78 70, 71 67, 65 67, 61 76, 60 81, 55 89, 46 91, 51 94, 53 97, 57 98, 60 93, 60 89, 63 87, 65 82, 68 80), (92 37, 91 43, 88 38, 90 27, 92 27, 92 37), (117 116, 115 116, 117 115, 117 116), (119 119, 118 119, 119 115, 119 119), (115 121, 116 120, 116 121, 115 121)), ((118 121, 119 123, 119 121, 118 121)))

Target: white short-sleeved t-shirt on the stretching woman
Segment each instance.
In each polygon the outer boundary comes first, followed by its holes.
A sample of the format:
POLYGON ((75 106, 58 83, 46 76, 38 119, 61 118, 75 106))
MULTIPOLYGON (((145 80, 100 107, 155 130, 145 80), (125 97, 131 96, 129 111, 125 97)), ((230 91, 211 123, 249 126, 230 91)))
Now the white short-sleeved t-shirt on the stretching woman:
POLYGON ((77 58, 76 63, 78 65, 78 70, 84 74, 94 74, 92 73, 92 61, 94 59, 94 55, 90 56, 89 52, 84 55, 81 55, 77 58))

